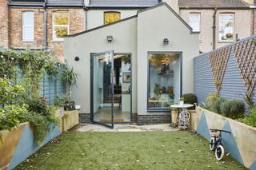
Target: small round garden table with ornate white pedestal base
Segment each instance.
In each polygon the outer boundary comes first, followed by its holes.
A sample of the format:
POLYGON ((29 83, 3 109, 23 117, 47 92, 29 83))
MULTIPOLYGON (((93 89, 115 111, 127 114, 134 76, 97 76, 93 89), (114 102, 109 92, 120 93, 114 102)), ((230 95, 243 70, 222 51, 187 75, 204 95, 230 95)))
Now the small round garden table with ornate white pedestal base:
POLYGON ((190 113, 187 111, 188 108, 194 105, 183 104, 183 105, 170 105, 171 108, 180 109, 181 113, 178 115, 178 128, 189 128, 190 127, 190 113))

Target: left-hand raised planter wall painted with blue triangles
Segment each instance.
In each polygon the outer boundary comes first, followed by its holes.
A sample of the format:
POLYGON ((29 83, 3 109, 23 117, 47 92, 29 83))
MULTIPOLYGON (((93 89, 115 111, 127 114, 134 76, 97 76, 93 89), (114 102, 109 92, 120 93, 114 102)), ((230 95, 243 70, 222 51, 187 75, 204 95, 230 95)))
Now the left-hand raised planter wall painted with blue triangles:
POLYGON ((2 142, 0 141, 0 169, 13 169, 36 152, 38 148, 60 135, 62 133, 60 109, 55 112, 55 117, 60 120, 59 126, 50 125, 50 131, 41 144, 38 144, 35 140, 30 122, 22 123, 10 131, 0 131, 2 134, 2 142))

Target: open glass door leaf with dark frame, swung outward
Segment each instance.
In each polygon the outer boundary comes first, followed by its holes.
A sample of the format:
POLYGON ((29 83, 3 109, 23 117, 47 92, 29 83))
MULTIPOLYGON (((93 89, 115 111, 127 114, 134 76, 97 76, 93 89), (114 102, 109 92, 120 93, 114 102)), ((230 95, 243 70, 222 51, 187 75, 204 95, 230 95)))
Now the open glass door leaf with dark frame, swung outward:
POLYGON ((90 112, 93 122, 114 128, 114 52, 92 54, 90 71, 90 112))

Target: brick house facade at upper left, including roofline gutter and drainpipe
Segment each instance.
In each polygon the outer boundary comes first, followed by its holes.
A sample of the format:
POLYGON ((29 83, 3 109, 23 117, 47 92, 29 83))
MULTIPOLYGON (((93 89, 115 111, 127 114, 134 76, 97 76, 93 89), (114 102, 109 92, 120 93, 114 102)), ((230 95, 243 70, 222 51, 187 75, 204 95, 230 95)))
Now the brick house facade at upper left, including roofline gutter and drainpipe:
MULTIPOLYGON (((1 0, 4 1, 4 0, 1 0)), ((53 0, 51 2, 54 2, 53 0)), ((54 4, 43 6, 43 3, 31 3, 21 5, 17 1, 10 2, 9 10, 9 45, 10 49, 42 49, 46 47, 58 57, 59 60, 64 60, 63 53, 63 41, 53 40, 53 14, 55 12, 66 12, 69 16, 69 34, 76 34, 85 29, 85 15, 82 6, 82 1, 79 1, 78 5, 70 4, 54 4), (46 11, 46 14, 45 14, 46 11), (23 41, 22 40, 22 13, 23 12, 33 12, 34 14, 34 41, 23 41), (45 20, 46 16, 46 20, 45 20), (45 31, 46 22, 46 31, 45 31), (46 36, 45 36, 46 34, 46 36), (46 40, 46 41, 45 41, 46 40), (46 44, 46 46, 45 46, 46 44)), ((63 2, 64 3, 64 2, 63 2)), ((6 34, 8 35, 8 34, 6 34)), ((6 38, 8 39, 8 38, 6 38)), ((6 47, 6 45, 4 45, 6 47)))

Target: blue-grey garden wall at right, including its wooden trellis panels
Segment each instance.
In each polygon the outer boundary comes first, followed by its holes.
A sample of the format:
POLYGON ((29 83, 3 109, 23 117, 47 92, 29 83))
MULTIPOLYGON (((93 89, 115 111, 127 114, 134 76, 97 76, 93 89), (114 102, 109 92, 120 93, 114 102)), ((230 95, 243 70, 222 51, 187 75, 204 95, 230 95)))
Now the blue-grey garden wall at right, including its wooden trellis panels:
POLYGON ((242 100, 247 93, 256 101, 255 48, 254 35, 194 57, 194 93, 198 102, 205 102, 207 95, 218 88, 222 97, 242 100))

